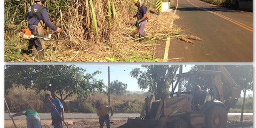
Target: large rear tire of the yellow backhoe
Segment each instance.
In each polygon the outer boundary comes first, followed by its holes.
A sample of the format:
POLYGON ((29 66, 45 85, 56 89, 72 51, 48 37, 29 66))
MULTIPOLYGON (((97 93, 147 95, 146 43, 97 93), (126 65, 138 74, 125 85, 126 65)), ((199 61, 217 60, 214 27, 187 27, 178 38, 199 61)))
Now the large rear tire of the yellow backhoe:
POLYGON ((206 111, 206 127, 207 128, 223 128, 227 127, 228 113, 221 106, 213 106, 206 111))

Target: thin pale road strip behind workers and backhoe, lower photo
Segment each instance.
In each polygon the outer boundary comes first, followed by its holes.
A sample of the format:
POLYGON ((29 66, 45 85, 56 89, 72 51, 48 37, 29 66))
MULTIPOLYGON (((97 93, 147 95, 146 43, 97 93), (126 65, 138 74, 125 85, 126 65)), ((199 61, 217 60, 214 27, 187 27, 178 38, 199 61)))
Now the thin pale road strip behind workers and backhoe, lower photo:
MULTIPOLYGON (((39 113, 41 119, 51 119, 50 113, 39 113)), ((228 113, 229 116, 241 115, 240 113, 228 113)), ((244 113, 244 115, 252 115, 252 113, 244 113)), ((82 119, 82 118, 98 118, 97 114, 70 114, 66 113, 66 119, 82 119)), ((114 114, 111 118, 135 118, 140 114, 114 114)), ((11 119, 8 114, 4 114, 4 119, 11 119)), ((14 119, 26 119, 26 116, 17 116, 14 119)))

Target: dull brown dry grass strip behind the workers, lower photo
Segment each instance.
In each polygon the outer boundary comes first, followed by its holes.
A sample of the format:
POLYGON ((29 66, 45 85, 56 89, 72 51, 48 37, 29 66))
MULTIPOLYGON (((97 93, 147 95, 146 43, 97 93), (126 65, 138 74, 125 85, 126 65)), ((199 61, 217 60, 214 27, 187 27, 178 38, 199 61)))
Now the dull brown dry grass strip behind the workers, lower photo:
MULTIPOLYGON (((47 101, 44 100, 46 92, 36 92, 35 90, 25 90, 13 87, 10 92, 5 95, 5 99, 12 113, 25 109, 35 109, 39 113, 47 112, 47 101)), ((115 113, 140 113, 144 103, 145 95, 143 94, 125 94, 110 95, 110 105, 115 113)), ((108 105, 108 95, 96 93, 87 99, 78 98, 76 95, 69 97, 63 102, 66 113, 95 113, 96 102, 100 101, 101 105, 108 105)), ((7 108, 5 108, 7 113, 7 108)))

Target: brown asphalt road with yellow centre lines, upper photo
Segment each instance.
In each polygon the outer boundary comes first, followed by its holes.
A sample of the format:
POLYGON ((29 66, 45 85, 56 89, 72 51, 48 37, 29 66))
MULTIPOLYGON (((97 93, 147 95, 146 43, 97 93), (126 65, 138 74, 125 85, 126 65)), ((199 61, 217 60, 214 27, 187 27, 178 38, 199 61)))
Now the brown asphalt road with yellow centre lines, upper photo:
MULTIPOLYGON (((166 61, 234 62, 253 61, 253 14, 229 10, 199 0, 179 0, 173 26, 182 35, 194 35, 204 41, 194 44, 171 39, 166 61)), ((155 57, 164 58, 165 41, 155 57)), ((167 47, 168 48, 168 47, 167 47)))

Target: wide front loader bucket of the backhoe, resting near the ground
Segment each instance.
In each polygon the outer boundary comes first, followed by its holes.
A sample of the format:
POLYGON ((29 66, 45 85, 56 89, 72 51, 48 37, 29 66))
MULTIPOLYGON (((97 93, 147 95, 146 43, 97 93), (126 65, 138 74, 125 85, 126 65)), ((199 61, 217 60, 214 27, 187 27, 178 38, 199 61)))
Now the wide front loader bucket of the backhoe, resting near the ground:
POLYGON ((127 123, 117 128, 154 128, 159 121, 153 119, 132 119, 128 118, 127 123))

